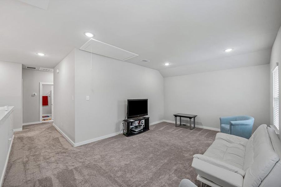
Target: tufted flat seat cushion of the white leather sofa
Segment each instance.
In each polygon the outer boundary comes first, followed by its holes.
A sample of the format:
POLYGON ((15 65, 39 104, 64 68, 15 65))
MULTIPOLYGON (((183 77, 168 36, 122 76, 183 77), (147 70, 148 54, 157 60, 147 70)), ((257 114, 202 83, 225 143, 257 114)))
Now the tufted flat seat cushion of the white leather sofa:
POLYGON ((219 132, 204 155, 243 169, 247 141, 246 138, 219 132))

